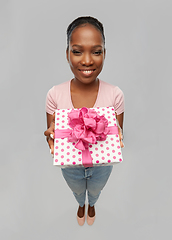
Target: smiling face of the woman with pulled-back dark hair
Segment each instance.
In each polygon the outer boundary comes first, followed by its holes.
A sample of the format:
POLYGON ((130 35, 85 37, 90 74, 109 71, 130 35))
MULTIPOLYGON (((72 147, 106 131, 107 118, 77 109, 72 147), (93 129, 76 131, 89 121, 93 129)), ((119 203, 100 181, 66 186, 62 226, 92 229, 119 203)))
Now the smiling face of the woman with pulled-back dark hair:
POLYGON ((94 26, 79 26, 72 32, 67 60, 75 80, 92 83, 103 68, 105 49, 102 35, 94 26))

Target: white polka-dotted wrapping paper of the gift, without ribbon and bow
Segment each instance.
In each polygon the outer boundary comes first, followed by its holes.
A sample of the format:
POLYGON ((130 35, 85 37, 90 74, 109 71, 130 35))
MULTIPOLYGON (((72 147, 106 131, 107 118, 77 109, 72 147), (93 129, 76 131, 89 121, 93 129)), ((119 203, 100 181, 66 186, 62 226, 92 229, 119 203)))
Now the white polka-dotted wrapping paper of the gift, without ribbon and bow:
MULTIPOLYGON (((108 126, 116 126, 115 111, 113 107, 94 108, 99 115, 104 115, 108 120, 108 126)), ((55 116, 55 129, 67 129, 68 112, 71 109, 58 109, 55 116)), ((122 162, 119 135, 108 135, 105 141, 89 144, 93 165, 109 165, 122 162)), ((54 141, 54 160, 57 166, 82 166, 82 151, 75 148, 75 143, 68 142, 67 138, 58 138, 54 141)))

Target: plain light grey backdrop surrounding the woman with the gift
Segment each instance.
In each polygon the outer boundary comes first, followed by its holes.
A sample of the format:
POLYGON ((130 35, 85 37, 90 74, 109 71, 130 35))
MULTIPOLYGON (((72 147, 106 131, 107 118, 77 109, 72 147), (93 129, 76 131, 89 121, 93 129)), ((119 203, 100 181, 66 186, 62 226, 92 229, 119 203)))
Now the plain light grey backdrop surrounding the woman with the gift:
POLYGON ((171 239, 172 3, 169 0, 0 0, 0 238, 171 239), (100 79, 125 95, 124 162, 115 165, 92 227, 52 164, 45 98, 71 79, 66 29, 78 16, 104 25, 100 79))

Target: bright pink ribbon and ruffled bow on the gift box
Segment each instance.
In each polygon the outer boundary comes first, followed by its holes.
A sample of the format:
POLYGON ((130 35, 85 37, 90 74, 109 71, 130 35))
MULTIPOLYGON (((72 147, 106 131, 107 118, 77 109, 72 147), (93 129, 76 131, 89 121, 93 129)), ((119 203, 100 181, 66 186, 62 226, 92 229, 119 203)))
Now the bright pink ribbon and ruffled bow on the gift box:
POLYGON ((89 144, 104 141, 107 135, 118 134, 117 126, 108 127, 108 120, 94 109, 83 107, 72 109, 68 113, 68 129, 56 129, 55 138, 68 138, 75 143, 75 148, 82 151, 82 164, 84 167, 92 167, 92 157, 89 144))

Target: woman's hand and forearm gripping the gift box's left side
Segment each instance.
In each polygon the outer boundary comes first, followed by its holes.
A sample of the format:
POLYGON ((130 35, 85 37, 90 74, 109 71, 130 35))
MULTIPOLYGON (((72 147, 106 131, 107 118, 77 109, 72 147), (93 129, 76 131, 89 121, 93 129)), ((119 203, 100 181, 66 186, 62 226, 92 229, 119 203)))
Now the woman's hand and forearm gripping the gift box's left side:
POLYGON ((53 114, 50 127, 44 132, 44 135, 47 137, 47 142, 52 155, 54 154, 54 130, 55 130, 55 113, 53 114))

